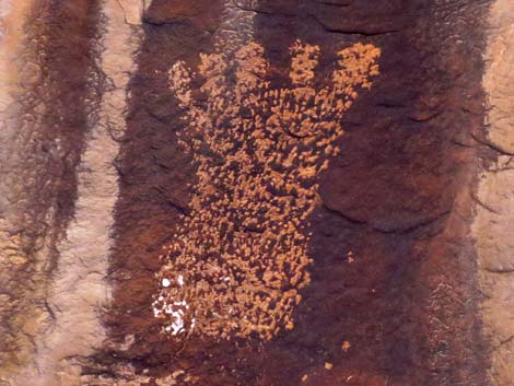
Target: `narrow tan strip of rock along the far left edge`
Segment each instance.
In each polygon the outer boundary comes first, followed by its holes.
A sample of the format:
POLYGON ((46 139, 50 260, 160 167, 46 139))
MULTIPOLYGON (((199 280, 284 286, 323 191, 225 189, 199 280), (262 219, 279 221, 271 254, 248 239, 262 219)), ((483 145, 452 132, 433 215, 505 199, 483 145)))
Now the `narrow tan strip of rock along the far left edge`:
POLYGON ((4 285, 0 288, 0 318, 16 318, 20 323, 19 330, 10 330, 11 324, 7 321, 0 326, 0 384, 31 350, 23 320, 37 317, 36 313, 16 314, 25 300, 16 297, 16 290, 23 284, 13 280, 16 270, 26 262, 19 235, 19 226, 24 223, 19 203, 23 201, 25 184, 19 175, 19 165, 25 148, 19 140, 22 119, 15 95, 28 87, 21 75, 26 65, 21 56, 26 37, 23 25, 32 5, 32 0, 0 0, 0 283, 4 285))

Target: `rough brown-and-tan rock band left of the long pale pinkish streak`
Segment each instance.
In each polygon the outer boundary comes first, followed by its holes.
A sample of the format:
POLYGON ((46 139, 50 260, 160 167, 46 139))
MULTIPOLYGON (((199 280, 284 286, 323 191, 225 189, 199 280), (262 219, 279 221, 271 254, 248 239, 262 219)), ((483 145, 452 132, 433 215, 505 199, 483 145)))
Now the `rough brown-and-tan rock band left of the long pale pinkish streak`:
POLYGON ((73 212, 74 168, 96 97, 93 16, 91 1, 15 2, 7 15, 0 217, 25 261, 2 270, 0 286, 15 300, 2 314, 2 371, 28 363, 38 328, 51 319, 49 276, 73 212))

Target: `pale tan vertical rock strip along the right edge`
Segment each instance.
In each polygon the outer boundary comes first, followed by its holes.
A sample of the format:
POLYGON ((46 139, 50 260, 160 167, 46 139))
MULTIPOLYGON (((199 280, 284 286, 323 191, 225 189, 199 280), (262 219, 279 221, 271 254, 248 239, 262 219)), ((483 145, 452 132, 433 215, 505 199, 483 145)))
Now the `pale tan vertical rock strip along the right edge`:
POLYGON ((492 347, 490 381, 514 385, 514 2, 490 9, 483 89, 489 141, 498 162, 479 174, 472 233, 478 253, 483 335, 492 347))

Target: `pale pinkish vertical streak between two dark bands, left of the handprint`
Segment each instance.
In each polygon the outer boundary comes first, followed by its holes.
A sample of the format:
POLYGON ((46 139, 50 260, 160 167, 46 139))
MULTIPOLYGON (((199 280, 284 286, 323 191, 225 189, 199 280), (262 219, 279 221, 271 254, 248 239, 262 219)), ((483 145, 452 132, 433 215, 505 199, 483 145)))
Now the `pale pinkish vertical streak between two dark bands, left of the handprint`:
POLYGON ((126 129, 126 89, 135 69, 137 39, 116 0, 104 1, 103 13, 100 66, 108 87, 78 169, 74 219, 58 244, 58 267, 47 299, 54 320, 37 336, 34 365, 10 379, 13 386, 80 385, 80 367, 71 359, 93 354, 106 338, 101 313, 110 299, 106 274, 119 190, 115 138, 126 129))

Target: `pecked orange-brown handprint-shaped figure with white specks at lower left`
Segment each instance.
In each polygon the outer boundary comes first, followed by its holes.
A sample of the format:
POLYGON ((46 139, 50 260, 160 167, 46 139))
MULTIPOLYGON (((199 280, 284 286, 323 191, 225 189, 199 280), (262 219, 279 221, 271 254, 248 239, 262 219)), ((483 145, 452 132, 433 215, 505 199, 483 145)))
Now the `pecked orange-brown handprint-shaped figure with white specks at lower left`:
POLYGON ((271 89, 264 49, 201 55, 198 74, 183 62, 171 89, 188 127, 180 143, 198 164, 191 211, 168 246, 154 314, 171 335, 256 335, 292 329, 299 290, 309 283, 308 215, 317 179, 339 149, 341 118, 378 74, 381 51, 355 44, 338 52, 315 89, 319 47, 291 47, 289 89, 271 89), (202 80, 196 102, 192 78, 202 80))

